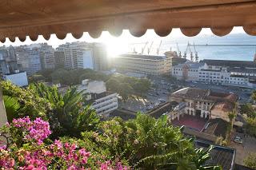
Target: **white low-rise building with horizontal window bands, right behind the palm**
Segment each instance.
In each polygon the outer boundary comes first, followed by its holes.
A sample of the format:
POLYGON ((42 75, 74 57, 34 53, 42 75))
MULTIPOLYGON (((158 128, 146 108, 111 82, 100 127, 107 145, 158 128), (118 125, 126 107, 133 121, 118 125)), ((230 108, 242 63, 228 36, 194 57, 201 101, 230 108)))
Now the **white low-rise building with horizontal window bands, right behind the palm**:
POLYGON ((82 85, 78 85, 78 91, 86 94, 86 102, 88 102, 98 115, 108 117, 109 113, 118 109, 118 94, 106 91, 104 81, 82 81, 82 85))

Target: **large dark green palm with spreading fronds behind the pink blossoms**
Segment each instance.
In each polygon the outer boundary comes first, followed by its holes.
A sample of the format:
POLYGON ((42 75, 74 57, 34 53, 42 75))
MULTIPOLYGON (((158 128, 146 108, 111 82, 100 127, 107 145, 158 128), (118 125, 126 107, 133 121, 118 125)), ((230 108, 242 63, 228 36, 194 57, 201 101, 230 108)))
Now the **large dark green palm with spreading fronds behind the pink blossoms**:
POLYGON ((50 123, 60 126, 56 132, 58 135, 80 136, 80 132, 97 128, 99 117, 94 109, 90 109, 90 105, 85 105, 83 91, 70 88, 62 95, 57 87, 42 83, 30 85, 30 89, 50 102, 54 113, 49 115, 50 123))

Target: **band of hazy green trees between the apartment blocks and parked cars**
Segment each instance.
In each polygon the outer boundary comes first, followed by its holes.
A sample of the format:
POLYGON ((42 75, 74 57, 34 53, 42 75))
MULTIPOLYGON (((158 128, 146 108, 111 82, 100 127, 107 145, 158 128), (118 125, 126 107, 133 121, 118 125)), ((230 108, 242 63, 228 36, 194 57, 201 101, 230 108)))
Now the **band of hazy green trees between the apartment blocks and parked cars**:
POLYGON ((30 83, 50 81, 62 85, 78 85, 82 80, 90 79, 96 81, 106 81, 106 87, 112 92, 116 92, 123 101, 129 98, 146 98, 151 83, 147 78, 135 78, 121 75, 108 76, 93 69, 46 69, 30 77, 30 83))

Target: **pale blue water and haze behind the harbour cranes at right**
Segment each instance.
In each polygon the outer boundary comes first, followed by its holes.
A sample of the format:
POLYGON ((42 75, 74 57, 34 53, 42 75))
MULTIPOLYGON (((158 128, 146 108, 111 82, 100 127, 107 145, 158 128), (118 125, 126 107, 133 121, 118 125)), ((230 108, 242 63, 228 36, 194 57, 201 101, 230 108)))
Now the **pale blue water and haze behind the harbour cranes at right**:
MULTIPOLYGON (((202 59, 218 59, 218 60, 238 60, 253 61, 256 49, 256 37, 247 34, 230 34, 224 37, 214 35, 200 35, 194 38, 168 38, 162 40, 160 48, 161 53, 170 50, 177 50, 177 45, 182 54, 186 50, 188 42, 192 52, 194 52, 195 44, 198 51, 199 60, 202 59), (207 44, 207 45, 206 45, 207 44)), ((187 59, 190 59, 190 53, 187 53, 187 59)))

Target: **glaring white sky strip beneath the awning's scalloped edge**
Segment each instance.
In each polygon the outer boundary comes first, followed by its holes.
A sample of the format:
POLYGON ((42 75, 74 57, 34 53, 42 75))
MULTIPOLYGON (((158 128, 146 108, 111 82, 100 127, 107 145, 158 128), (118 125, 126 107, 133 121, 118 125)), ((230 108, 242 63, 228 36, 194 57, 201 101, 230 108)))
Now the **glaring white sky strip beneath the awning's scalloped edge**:
MULTIPOLYGON (((211 30, 209 28, 202 29, 200 34, 201 35, 210 35, 212 34, 211 30)), ((234 27, 232 32, 230 34, 245 34, 244 30, 242 30, 242 27, 234 27)), ((182 38, 185 35, 182 34, 182 32, 179 29, 173 29, 172 32, 166 36, 165 38, 159 37, 157 34, 154 33, 154 30, 147 30, 146 34, 144 34, 141 38, 135 38, 129 33, 129 30, 123 30, 122 35, 118 38, 111 36, 109 32, 103 31, 100 38, 94 39, 91 38, 88 33, 84 33, 82 38, 75 39, 71 34, 67 34, 66 38, 64 40, 59 40, 55 34, 52 34, 50 37, 50 40, 46 41, 42 35, 38 37, 38 40, 35 42, 32 42, 30 38, 26 37, 25 42, 20 42, 18 38, 16 38, 15 42, 10 42, 10 40, 7 38, 6 42, 0 43, 0 46, 6 45, 6 46, 18 46, 18 45, 30 45, 35 43, 44 43, 47 42, 49 45, 52 45, 54 48, 57 48, 58 45, 65 44, 66 42, 102 42, 107 45, 108 52, 115 55, 118 53, 123 53, 128 51, 129 44, 136 44, 136 43, 144 43, 147 41, 157 41, 160 42, 162 39, 167 38, 182 38)))

